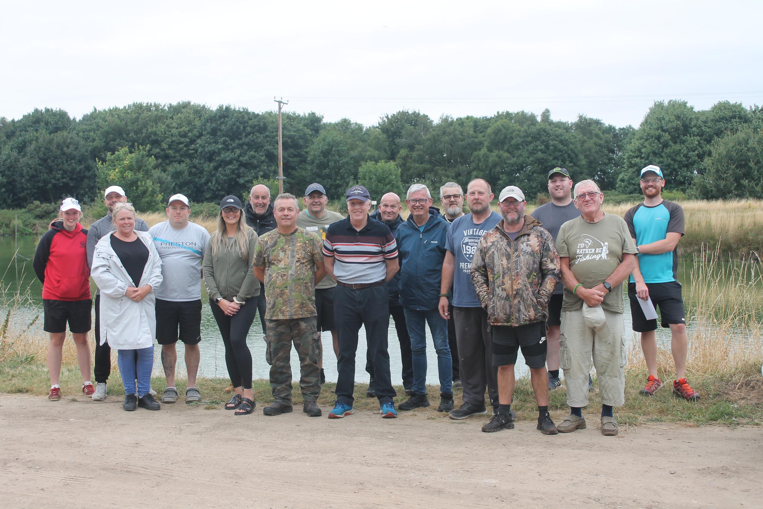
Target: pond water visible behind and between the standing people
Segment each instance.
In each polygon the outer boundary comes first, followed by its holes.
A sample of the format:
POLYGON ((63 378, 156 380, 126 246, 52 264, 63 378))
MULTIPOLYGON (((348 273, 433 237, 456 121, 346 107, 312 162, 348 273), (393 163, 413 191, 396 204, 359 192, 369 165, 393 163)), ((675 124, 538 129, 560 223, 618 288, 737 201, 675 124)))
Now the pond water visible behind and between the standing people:
MULTIPOLYGON (((37 314, 40 314, 39 319, 31 327, 31 330, 44 334, 42 330, 42 285, 34 276, 32 270, 31 260, 34 256, 34 250, 37 246, 37 237, 18 237, 15 240, 14 237, 0 237, 0 270, 3 271, 2 282, 3 288, 5 288, 4 294, 11 295, 12 292, 25 292, 28 290, 33 302, 27 304, 22 309, 14 313, 14 324, 16 328, 24 328, 29 324, 37 314), (14 253, 18 255, 14 257, 14 253)), ((679 270, 679 280, 684 285, 684 297, 688 294, 687 285, 690 284, 689 275, 691 274, 691 263, 681 263, 679 270)), ((201 285, 201 283, 200 283, 201 285)), ((204 291, 204 286, 201 285, 202 290, 202 307, 201 316, 201 365, 199 367, 199 375, 215 376, 215 377, 227 377, 227 369, 225 368, 225 349, 220 331, 217 329, 217 323, 214 321, 214 317, 211 313, 211 308, 208 304, 208 297, 204 291)), ((92 284, 92 292, 95 295, 95 285, 92 284)), ((625 305, 625 322, 626 330, 630 330, 631 318, 629 306, 625 305)), ((691 321, 688 326, 692 327, 691 321)), ((269 366, 265 361, 265 342, 262 340, 262 327, 259 322, 259 317, 254 321, 254 324, 250 330, 247 338, 247 344, 250 347, 253 357, 253 376, 255 379, 267 379, 269 376, 269 366)), ((635 334, 629 336, 630 340, 636 340, 635 334)), ((394 329, 394 322, 390 321, 389 332, 389 356, 392 382, 396 385, 402 383, 401 379, 401 356, 398 343, 397 333, 394 329)), ((662 343, 668 343, 670 341, 669 330, 658 329, 658 341, 662 343)), ((324 370, 326 372, 326 378, 329 382, 336 382, 336 358, 333 355, 333 347, 331 344, 331 334, 323 333, 322 342, 324 346, 324 370)), ((432 340, 430 333, 427 330, 427 383, 438 383, 437 378, 437 362, 436 354, 432 346, 432 340)), ((160 375, 163 373, 162 367, 159 361, 159 346, 155 346, 155 365, 154 375, 160 375)), ((178 359, 179 359, 179 375, 185 373, 185 363, 183 361, 183 346, 182 342, 178 343, 178 359)), ((299 362, 295 351, 291 352, 291 366, 295 373, 295 380, 298 380, 298 368, 299 362)), ((523 359, 517 361, 517 372, 521 375, 527 372, 523 359)), ((356 382, 368 382, 369 375, 365 372, 365 330, 361 328, 359 333, 358 354, 356 356, 356 382)), ((295 382, 295 388, 297 388, 295 382)))

